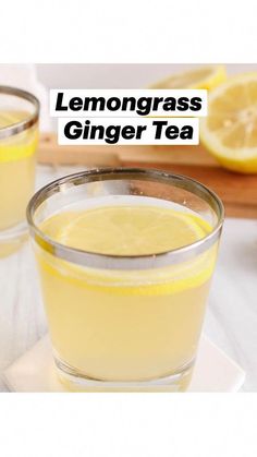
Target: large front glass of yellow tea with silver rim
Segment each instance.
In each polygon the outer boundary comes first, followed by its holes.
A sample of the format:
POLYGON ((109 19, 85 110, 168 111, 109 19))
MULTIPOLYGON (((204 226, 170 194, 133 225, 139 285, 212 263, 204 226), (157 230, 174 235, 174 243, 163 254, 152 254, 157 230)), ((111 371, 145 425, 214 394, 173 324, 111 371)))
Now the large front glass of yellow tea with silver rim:
POLYGON ((27 219, 61 381, 185 390, 222 229, 218 196, 164 171, 95 169, 39 190, 27 219), (184 233, 197 240, 163 249, 184 233))

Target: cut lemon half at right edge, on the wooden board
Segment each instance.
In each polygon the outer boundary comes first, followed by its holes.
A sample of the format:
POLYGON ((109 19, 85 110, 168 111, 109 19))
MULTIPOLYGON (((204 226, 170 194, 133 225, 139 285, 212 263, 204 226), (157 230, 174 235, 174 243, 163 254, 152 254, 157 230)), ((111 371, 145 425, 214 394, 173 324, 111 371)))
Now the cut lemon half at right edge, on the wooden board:
POLYGON ((228 169, 257 172, 257 73, 229 79, 209 94, 200 140, 228 169))

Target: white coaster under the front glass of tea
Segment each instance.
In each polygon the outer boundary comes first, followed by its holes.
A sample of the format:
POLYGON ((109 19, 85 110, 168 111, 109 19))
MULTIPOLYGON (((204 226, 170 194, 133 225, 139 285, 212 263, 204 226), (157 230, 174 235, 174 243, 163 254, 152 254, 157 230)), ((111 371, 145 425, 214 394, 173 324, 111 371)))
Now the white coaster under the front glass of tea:
MULTIPOLYGON (((9 366, 3 378, 11 392, 65 392, 57 377, 48 336, 9 366)), ((244 378, 245 373, 203 336, 188 392, 237 392, 244 378)))

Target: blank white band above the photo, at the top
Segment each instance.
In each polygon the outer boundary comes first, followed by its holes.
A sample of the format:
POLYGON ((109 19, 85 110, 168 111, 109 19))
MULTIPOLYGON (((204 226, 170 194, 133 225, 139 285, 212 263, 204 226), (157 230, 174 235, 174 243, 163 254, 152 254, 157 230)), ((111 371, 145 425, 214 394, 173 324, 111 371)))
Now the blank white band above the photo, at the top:
POLYGON ((2 62, 254 62, 255 0, 9 0, 2 62))

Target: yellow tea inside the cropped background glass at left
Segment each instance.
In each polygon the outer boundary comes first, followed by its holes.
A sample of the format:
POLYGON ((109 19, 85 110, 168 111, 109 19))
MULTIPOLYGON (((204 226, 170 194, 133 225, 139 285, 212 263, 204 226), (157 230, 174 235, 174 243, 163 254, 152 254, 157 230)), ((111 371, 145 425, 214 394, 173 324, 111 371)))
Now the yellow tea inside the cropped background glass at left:
MULTIPOLYGON (((25 111, 0 111, 0 129, 28 116, 25 111)), ((34 192, 37 140, 35 127, 0 140, 0 230, 25 219, 26 205, 34 192)))

